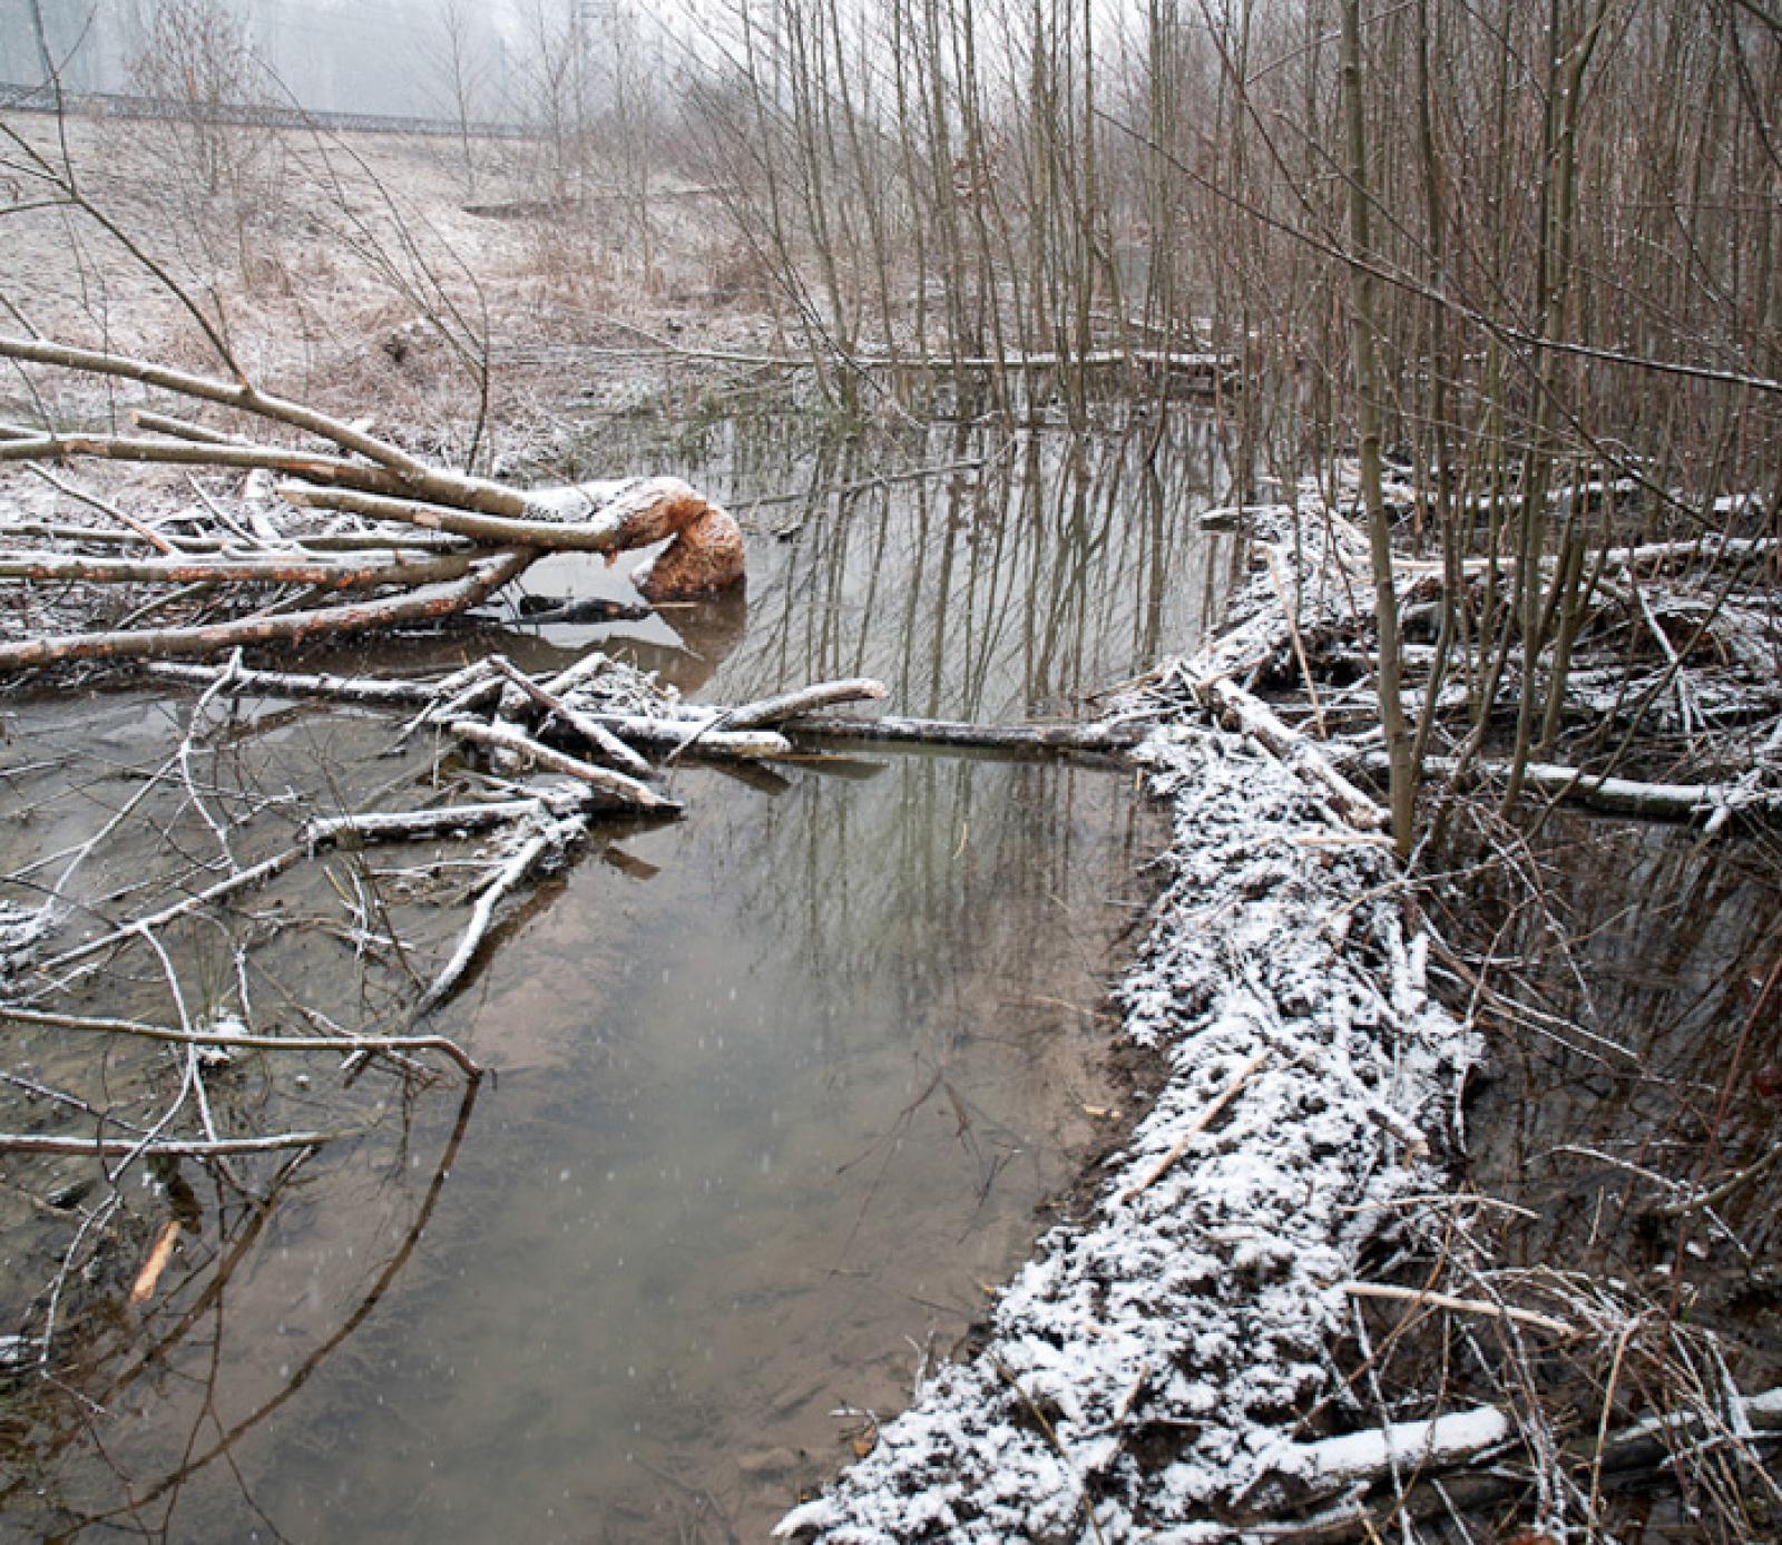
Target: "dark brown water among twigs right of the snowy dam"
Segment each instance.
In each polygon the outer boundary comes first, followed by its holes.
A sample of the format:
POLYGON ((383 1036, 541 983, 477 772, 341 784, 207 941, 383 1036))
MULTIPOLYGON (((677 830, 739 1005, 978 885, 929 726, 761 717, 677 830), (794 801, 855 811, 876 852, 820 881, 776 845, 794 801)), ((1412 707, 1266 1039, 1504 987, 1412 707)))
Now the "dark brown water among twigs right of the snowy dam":
MULTIPOLYGON (((1452 857, 1467 866, 1475 855, 1452 857)), ((1552 1274, 1586 1296, 1613 1283, 1638 1312, 1613 1372, 1602 1344, 1554 1345, 1531 1360, 1536 1377, 1561 1420, 1582 1410, 1595 1422, 1607 1383, 1613 1426, 1686 1408, 1691 1385, 1709 1402, 1727 1383, 1777 1388, 1782 1176, 1764 1169, 1713 1215, 1659 1208, 1775 1153, 1782 1003, 1761 1007, 1757 984, 1782 957, 1782 841, 1557 811, 1516 862, 1536 879, 1540 905, 1524 884, 1492 877, 1458 886, 1456 911, 1440 920, 1497 962, 1508 994, 1479 1019, 1486 1064, 1467 1108, 1463 1178, 1515 1206, 1486 1210, 1484 1228, 1495 1258, 1531 1272, 1536 1292, 1552 1274)), ((1397 1372, 1427 1388, 1447 1356, 1420 1345, 1397 1372)), ((1474 1383, 1465 1397, 1500 1401, 1502 1385, 1474 1383)), ((1775 1538, 1762 1484, 1729 1465, 1721 1497, 1709 1499, 1711 1468, 1689 1470, 1682 1486, 1611 1477, 1614 1536, 1775 1538), (1743 1516, 1729 1508, 1716 1522, 1714 1502, 1732 1497, 1745 1499, 1743 1516)), ((1529 1509, 1516 1516, 1527 1522, 1529 1509)), ((1511 1533, 1508 1513, 1499 1522, 1511 1533)))

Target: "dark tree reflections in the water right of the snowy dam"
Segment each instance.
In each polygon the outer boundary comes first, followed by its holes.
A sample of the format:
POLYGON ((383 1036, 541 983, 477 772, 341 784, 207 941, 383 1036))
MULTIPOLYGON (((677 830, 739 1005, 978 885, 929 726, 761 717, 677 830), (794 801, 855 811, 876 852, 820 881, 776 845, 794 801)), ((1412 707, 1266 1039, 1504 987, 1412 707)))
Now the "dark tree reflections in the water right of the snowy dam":
MULTIPOLYGON (((1531 1260, 1574 1258, 1574 1235, 1597 1217, 1600 1196, 1607 1208, 1593 1242, 1625 1263, 1675 1238, 1607 1226, 1616 1210, 1650 1201, 1622 1165, 1698 1183, 1773 1142, 1775 1105, 1752 1078, 1782 1059, 1782 1016, 1752 1026, 1730 1083, 1729 1071, 1753 1005, 1750 975, 1782 950, 1782 868, 1768 836, 1704 843, 1575 816, 1554 816, 1552 827, 1563 841, 1543 854, 1545 905, 1504 920, 1492 952, 1520 955, 1540 996, 1504 1039, 1506 1092, 1490 1096, 1481 1180, 1550 1198, 1545 1217, 1520 1231, 1531 1260)), ((1493 889, 1483 891, 1492 916, 1493 889)), ((1782 1176, 1770 1176, 1725 1217, 1761 1253, 1778 1208, 1782 1176)))

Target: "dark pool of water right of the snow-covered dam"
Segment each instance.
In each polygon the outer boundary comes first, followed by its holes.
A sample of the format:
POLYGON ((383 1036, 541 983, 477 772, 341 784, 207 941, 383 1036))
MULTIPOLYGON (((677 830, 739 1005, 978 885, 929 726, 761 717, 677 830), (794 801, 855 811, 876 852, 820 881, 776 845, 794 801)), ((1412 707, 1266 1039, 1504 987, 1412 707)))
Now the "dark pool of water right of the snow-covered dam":
POLYGON ((1782 1174, 1729 1196, 1714 1210, 1727 1230, 1659 1217, 1652 1176, 1705 1187, 1775 1146, 1782 1000, 1761 1001, 1761 984, 1782 952, 1782 843, 1570 813, 1549 836, 1543 907, 1511 911, 1495 882, 1472 886, 1459 923, 1527 962, 1531 996, 1481 1016, 1490 1064, 1470 1112, 1470 1178, 1525 1210, 1497 1221, 1497 1247, 1659 1304, 1684 1296, 1727 1329, 1741 1388, 1770 1388, 1782 1174))

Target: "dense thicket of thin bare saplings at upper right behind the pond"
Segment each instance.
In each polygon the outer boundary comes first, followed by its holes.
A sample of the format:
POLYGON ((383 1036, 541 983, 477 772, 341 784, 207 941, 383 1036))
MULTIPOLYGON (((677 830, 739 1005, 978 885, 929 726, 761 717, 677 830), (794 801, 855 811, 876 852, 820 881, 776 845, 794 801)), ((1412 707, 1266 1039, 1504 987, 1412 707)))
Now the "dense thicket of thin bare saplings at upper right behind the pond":
MULTIPOLYGON (((192 98, 208 189, 214 100, 274 89, 217 12, 166 7, 139 69, 192 98)), ((1458 788, 1504 752, 1508 807, 1574 727, 1581 654, 1613 634, 1675 675, 1704 645, 1606 615, 1627 599, 1606 551, 1773 531, 1771 0, 738 0, 693 32, 579 5, 526 32, 499 91, 463 7, 424 50, 467 191, 479 160, 519 166, 547 226, 622 233, 645 292, 665 194, 709 191, 727 283, 781 312, 845 412, 1087 426, 1110 394, 1194 380, 1230 387, 1235 503, 1354 458, 1401 850, 1429 756, 1458 788), (492 119, 531 137, 479 148, 492 119), (1410 695, 1406 538, 1442 565, 1410 695)), ((474 308, 421 289, 486 365, 474 308)), ((1673 688, 1641 677, 1634 722, 1673 688)), ((1579 750, 1602 772, 1634 740, 1579 750)))

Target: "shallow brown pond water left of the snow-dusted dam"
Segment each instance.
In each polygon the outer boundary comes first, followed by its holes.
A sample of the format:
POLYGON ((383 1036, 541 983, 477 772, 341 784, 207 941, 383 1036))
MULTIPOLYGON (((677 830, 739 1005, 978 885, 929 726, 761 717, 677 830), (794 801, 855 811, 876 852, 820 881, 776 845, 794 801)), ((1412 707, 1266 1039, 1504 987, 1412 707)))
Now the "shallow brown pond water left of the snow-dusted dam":
MULTIPOLYGON (((745 604, 474 649, 544 666, 599 643, 715 700, 871 674, 902 713, 1016 720, 1215 620, 1230 552, 1190 515, 1217 453, 1189 417, 1157 446, 866 451, 720 424, 681 451, 663 470, 748 522, 745 604)), ((574 561, 529 584, 620 593, 574 561)), ((39 757, 91 743, 59 731, 69 713, 30 709, 39 757)), ((130 700, 96 713, 166 754, 130 700)), ((305 757, 344 791, 390 779, 364 716, 260 713, 241 734, 258 788, 305 757)), ((1160 823, 1130 773, 1087 763, 862 754, 686 768, 675 793, 684 820, 590 843, 438 1016, 494 1087, 360 1091, 383 1101, 372 1130, 269 1206, 200 1192, 164 1296, 82 1342, 96 1404, 14 1418, 0 1529, 754 1540, 871 1443, 1112 1128, 1105 991, 1160 823)), ((62 809, 75 834, 96 822, 62 809)), ((326 900, 303 884, 260 912, 287 930, 278 1001, 364 1012, 351 952, 294 925, 326 900)), ((397 909, 405 928, 421 911, 397 909)), ((308 1119, 331 1083, 317 1067, 308 1119)))

